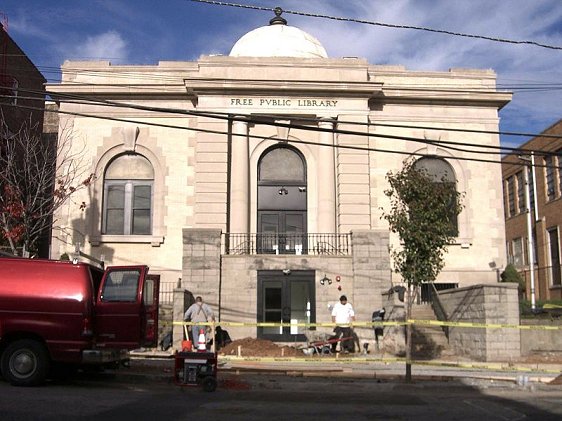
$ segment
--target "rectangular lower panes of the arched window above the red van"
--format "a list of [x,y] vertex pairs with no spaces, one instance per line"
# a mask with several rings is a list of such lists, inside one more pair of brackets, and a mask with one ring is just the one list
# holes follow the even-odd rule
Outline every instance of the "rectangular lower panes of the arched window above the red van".
[[140,180],[107,181],[103,233],[150,235],[152,233],[152,183]]

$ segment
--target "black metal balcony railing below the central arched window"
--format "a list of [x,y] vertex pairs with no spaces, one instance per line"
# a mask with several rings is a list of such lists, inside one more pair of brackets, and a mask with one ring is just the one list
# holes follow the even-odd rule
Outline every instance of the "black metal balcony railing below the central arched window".
[[294,254],[347,256],[351,234],[256,233],[223,234],[224,254]]

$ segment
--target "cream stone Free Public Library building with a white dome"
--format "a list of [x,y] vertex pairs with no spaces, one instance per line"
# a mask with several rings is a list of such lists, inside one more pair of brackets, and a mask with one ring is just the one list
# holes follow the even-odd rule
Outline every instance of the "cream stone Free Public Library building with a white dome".
[[[278,16],[228,56],[73,61],[62,74],[49,90],[97,178],[75,199],[85,210],[62,210],[53,257],[79,243],[111,264],[148,264],[223,321],[295,324],[234,337],[302,339],[297,322],[330,321],[341,294],[370,321],[400,282],[389,258],[397,238],[381,216],[385,176],[409,157],[465,194],[438,283],[495,283],[492,268],[505,265],[500,167],[431,142],[499,145],[486,131],[497,132],[511,94],[490,70],[329,58]],[[468,132],[448,130],[459,128]]]

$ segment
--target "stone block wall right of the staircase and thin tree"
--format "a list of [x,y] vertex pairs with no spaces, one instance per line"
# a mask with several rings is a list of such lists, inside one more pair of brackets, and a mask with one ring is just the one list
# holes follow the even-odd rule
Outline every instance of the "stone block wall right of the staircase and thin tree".
[[[442,291],[439,298],[452,322],[519,324],[517,285],[474,285]],[[450,327],[449,344],[458,355],[479,361],[506,361],[521,355],[519,329]]]

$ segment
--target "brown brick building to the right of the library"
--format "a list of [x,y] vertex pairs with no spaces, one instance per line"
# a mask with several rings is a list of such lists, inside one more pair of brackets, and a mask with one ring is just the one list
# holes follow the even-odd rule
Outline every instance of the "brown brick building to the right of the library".
[[[533,151],[502,159],[508,261],[525,276],[531,299],[526,190],[531,204],[531,232],[536,299],[562,299],[560,235],[562,227],[562,120],[520,146]],[[531,163],[534,165],[531,166]],[[525,178],[527,173],[527,179]],[[533,181],[534,180],[534,181]]]

